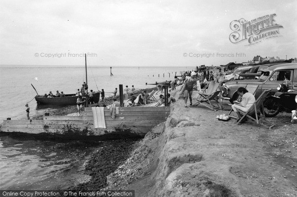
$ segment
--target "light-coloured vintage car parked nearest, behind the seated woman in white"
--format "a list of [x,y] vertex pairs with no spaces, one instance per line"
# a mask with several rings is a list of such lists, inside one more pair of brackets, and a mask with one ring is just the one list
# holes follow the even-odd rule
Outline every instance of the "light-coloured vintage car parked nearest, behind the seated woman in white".
[[233,103],[238,98],[237,89],[239,87],[245,87],[247,84],[259,85],[255,93],[256,98],[266,89],[271,89],[268,96],[274,95],[274,93],[278,91],[278,84],[284,81],[287,81],[288,84],[292,84],[293,89],[297,90],[297,63],[277,64],[261,72],[262,75],[259,79],[233,80],[227,82],[223,86],[223,96],[230,98],[230,102]]

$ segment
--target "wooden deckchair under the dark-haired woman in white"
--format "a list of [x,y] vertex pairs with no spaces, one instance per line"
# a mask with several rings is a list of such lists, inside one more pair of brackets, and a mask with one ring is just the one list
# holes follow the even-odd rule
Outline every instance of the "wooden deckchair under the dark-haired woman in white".
[[[258,119],[257,110],[260,108],[260,106],[262,106],[262,110],[263,110],[262,114],[263,116],[265,116],[263,102],[270,91],[271,89],[264,90],[262,94],[257,98],[256,102],[247,110],[247,112],[238,110],[238,112],[240,112],[243,116],[242,118],[239,119],[239,121],[236,122],[236,124],[239,124],[244,118],[250,118],[251,120],[257,122],[258,124],[259,119]],[[255,115],[256,118],[252,118],[251,115]]]

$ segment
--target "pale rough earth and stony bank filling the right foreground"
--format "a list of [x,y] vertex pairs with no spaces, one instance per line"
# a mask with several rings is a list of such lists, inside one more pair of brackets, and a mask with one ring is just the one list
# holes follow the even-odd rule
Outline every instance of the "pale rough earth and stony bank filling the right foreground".
[[290,114],[236,126],[235,119],[215,118],[228,114],[224,109],[187,109],[179,99],[105,189],[135,190],[136,197],[297,196],[297,124]]

